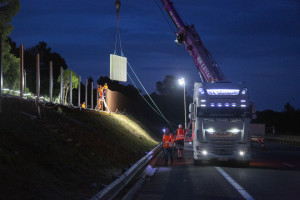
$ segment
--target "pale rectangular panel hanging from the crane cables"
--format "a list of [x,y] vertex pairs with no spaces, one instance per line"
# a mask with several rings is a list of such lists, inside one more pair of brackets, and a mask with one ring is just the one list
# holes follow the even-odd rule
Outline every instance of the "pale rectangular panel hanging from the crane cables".
[[110,79],[127,81],[127,58],[110,54]]

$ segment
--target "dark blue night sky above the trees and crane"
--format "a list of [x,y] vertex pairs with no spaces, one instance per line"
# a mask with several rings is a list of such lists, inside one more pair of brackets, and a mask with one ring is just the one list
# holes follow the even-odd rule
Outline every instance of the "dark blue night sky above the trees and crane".
[[[18,45],[45,41],[83,78],[109,75],[115,0],[20,3],[11,34]],[[154,0],[121,3],[123,52],[148,91],[171,74],[184,77],[191,94],[198,71],[185,47],[174,43]],[[184,22],[195,24],[227,79],[246,82],[258,110],[281,111],[287,102],[300,108],[300,1],[174,0],[174,5]]]

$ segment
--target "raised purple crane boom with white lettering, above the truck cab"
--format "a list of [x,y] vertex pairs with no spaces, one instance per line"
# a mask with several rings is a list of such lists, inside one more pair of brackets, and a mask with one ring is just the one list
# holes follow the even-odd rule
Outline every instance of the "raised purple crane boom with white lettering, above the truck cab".
[[186,49],[192,56],[202,81],[215,82],[226,80],[218,64],[205,48],[194,25],[183,23],[171,1],[161,0],[161,2],[178,29],[178,32],[176,32],[176,41],[179,45],[185,43]]

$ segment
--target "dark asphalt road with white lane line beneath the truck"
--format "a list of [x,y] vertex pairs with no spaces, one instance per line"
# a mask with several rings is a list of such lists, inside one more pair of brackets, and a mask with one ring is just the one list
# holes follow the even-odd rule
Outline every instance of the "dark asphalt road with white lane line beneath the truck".
[[254,145],[249,167],[228,162],[194,166],[186,143],[184,159],[172,166],[158,159],[136,199],[300,199],[300,147],[265,146]]

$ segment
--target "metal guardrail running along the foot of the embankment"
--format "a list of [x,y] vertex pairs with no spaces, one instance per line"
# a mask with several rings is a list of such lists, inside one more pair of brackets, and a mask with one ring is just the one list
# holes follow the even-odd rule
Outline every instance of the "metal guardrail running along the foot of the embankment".
[[133,166],[131,166],[125,173],[123,173],[119,178],[110,183],[99,193],[93,196],[90,200],[102,200],[102,199],[113,199],[118,195],[118,193],[136,176],[136,174],[143,169],[153,156],[161,150],[161,144],[158,144],[153,148],[146,156],[137,161]]

